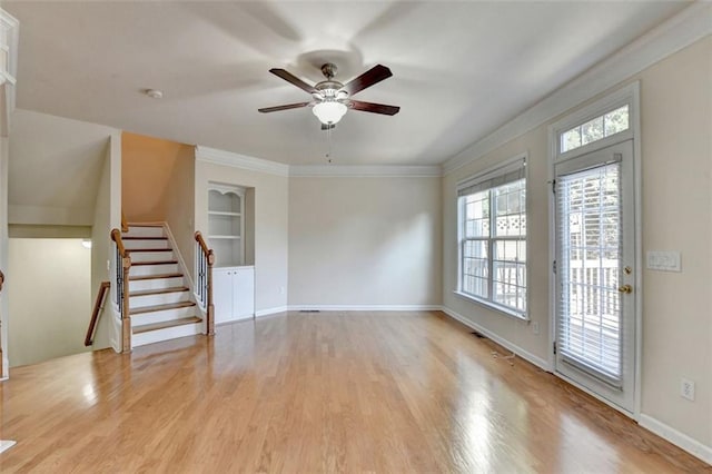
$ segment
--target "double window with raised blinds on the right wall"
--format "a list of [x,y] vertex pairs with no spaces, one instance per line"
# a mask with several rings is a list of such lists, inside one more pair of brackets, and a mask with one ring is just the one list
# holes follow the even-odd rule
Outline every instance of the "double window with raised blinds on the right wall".
[[526,318],[526,177],[518,158],[457,187],[458,293]]

